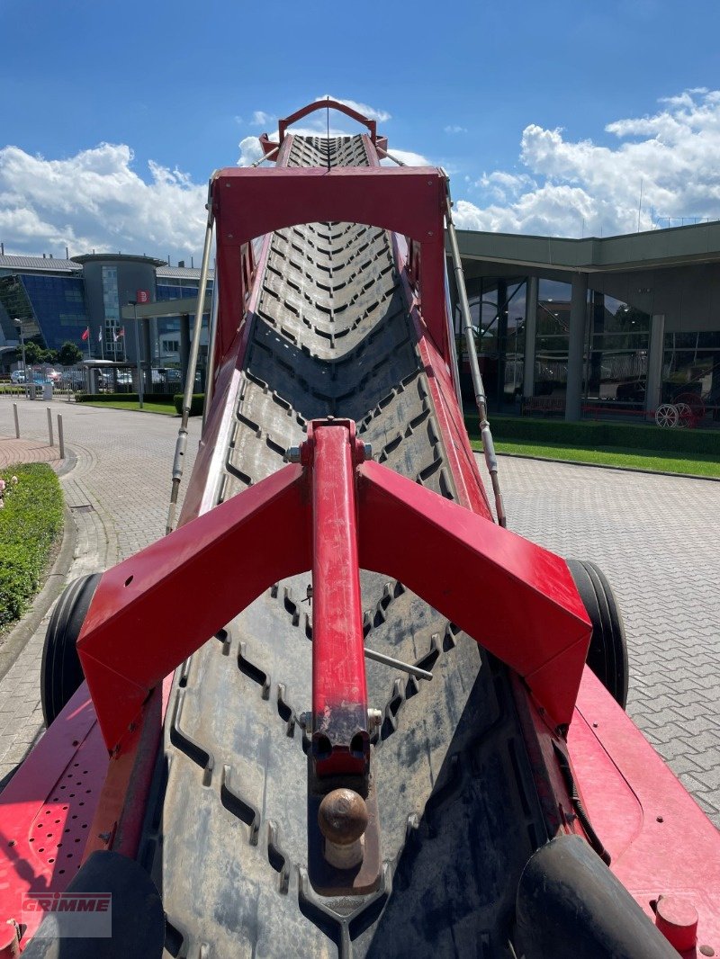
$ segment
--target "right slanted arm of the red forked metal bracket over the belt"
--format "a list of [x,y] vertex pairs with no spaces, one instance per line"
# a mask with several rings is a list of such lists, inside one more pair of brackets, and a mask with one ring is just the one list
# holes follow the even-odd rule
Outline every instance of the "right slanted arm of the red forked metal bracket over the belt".
[[591,626],[564,559],[377,463],[358,474],[360,565],[456,622],[567,727]]

